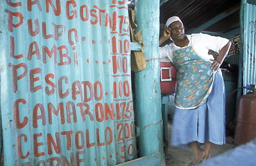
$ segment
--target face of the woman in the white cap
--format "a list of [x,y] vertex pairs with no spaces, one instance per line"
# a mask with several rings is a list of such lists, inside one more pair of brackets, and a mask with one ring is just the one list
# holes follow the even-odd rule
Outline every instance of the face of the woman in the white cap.
[[169,28],[171,28],[171,39],[173,39],[173,41],[185,38],[184,26],[180,21],[174,21]]

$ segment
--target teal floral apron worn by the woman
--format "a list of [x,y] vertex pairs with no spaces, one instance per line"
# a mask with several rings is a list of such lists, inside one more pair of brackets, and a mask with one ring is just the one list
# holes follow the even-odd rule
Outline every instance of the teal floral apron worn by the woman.
[[214,81],[212,62],[202,59],[192,46],[187,46],[173,51],[173,65],[178,70],[175,106],[195,109],[205,103]]

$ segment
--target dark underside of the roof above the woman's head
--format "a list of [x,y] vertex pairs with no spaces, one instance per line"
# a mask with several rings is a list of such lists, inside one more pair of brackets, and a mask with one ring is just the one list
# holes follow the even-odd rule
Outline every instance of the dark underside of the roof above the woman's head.
[[[180,0],[167,1],[160,6],[160,24],[165,24],[171,16],[177,15],[185,25],[185,31],[193,30],[212,21],[212,24],[201,30],[212,33],[225,33],[234,28],[239,28],[239,0]],[[234,12],[232,15],[224,15],[221,20],[214,21],[214,17],[227,12]],[[212,27],[213,26],[213,27]],[[198,32],[197,32],[198,33]]]

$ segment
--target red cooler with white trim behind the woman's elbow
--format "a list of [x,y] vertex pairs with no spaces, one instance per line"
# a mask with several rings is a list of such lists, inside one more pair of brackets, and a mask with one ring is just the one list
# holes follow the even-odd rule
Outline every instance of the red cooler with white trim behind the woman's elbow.
[[176,92],[177,70],[168,58],[160,60],[160,87],[162,95],[171,95]]

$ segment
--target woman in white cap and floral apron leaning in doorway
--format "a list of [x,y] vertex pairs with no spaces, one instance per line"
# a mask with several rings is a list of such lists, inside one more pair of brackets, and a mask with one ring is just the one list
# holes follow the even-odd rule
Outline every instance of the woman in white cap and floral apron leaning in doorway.
[[[210,158],[212,145],[225,143],[225,87],[219,67],[231,43],[202,33],[185,35],[179,17],[167,20],[160,44],[168,38],[173,43],[160,48],[160,57],[168,57],[178,70],[171,144],[191,147],[194,160],[189,165],[196,165]],[[209,50],[219,56],[214,59]]]

